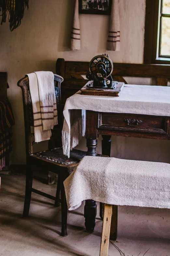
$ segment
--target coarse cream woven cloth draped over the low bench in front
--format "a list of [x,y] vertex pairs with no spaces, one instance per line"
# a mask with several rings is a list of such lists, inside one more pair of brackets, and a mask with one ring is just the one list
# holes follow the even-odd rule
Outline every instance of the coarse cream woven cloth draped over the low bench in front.
[[170,164],[85,156],[65,179],[64,188],[69,210],[87,199],[170,208]]

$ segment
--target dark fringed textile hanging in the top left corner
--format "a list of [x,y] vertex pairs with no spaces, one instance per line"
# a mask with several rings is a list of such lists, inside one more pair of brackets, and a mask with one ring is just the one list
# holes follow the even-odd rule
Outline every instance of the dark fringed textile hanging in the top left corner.
[[2,21],[1,25],[6,22],[7,13],[9,20],[10,30],[13,31],[15,28],[21,25],[21,20],[24,16],[24,10],[28,9],[29,0],[1,0],[0,9],[2,10]]

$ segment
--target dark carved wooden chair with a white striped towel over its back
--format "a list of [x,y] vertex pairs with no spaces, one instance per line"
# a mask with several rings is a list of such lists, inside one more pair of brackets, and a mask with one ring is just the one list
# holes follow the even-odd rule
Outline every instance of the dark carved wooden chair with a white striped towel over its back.
[[[28,217],[31,193],[34,192],[41,196],[45,196],[55,201],[54,206],[59,206],[61,203],[62,212],[62,231],[61,235],[67,235],[67,203],[65,198],[65,191],[63,181],[72,173],[74,167],[78,162],[86,155],[86,152],[73,149],[70,152],[70,158],[68,159],[63,155],[62,149],[62,127],[63,116],[61,111],[61,93],[60,84],[63,82],[63,77],[54,75],[57,112],[58,112],[58,125],[52,130],[52,136],[49,141],[49,150],[43,152],[33,153],[33,137],[34,133],[31,133],[31,126],[34,126],[33,109],[31,96],[29,92],[29,80],[28,77],[24,77],[18,82],[18,86],[22,89],[23,97],[23,110],[24,110],[24,124],[25,124],[25,142],[26,142],[26,187],[25,187],[25,201],[23,216]],[[56,196],[51,196],[44,192],[38,191],[32,188],[33,183],[33,171],[41,172],[43,169],[50,170],[51,172],[58,174],[57,191]],[[59,194],[61,191],[61,199]]]

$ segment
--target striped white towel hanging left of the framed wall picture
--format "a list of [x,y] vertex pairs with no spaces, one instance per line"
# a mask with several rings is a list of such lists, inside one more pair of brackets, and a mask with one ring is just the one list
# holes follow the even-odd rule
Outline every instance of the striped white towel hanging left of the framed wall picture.
[[80,50],[80,22],[78,15],[78,0],[75,3],[74,20],[71,30],[71,50]]

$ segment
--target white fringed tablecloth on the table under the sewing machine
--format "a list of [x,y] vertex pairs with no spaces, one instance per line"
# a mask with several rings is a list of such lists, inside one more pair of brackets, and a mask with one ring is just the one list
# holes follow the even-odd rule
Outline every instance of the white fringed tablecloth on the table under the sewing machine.
[[119,97],[80,93],[66,100],[63,111],[63,152],[68,157],[85,135],[85,110],[170,116],[170,87],[126,84]]

